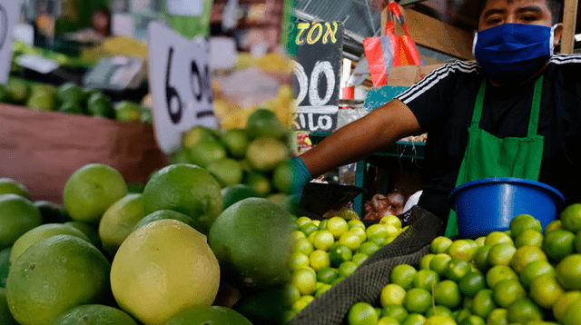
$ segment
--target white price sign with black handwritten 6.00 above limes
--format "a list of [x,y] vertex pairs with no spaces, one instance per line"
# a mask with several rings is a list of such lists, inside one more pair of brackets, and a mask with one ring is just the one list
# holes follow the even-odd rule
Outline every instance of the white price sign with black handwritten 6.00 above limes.
[[180,148],[194,125],[217,126],[210,80],[210,45],[183,37],[161,23],[149,25],[153,126],[163,153]]

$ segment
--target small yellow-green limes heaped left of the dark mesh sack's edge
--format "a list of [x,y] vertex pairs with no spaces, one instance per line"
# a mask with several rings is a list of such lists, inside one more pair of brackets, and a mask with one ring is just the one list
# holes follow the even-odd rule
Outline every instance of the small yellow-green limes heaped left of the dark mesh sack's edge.
[[[342,214],[357,215],[351,209]],[[287,318],[291,319],[321,293],[350,276],[359,265],[405,231],[395,215],[366,227],[359,219],[340,216],[311,220],[301,216],[292,232],[291,283],[287,286]]]

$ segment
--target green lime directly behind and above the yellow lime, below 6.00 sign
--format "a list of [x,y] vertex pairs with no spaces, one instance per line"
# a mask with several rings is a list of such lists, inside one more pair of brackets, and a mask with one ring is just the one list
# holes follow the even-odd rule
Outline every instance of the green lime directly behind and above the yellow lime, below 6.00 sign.
[[143,202],[146,214],[172,210],[192,217],[204,234],[210,231],[223,208],[220,184],[209,172],[185,163],[156,172],[145,185]]

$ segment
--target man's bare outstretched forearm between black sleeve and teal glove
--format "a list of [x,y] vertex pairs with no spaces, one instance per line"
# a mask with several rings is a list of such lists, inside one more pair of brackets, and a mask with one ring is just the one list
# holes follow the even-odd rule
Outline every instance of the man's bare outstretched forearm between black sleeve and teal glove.
[[334,168],[358,162],[399,139],[421,133],[409,107],[394,99],[330,134],[310,151],[300,155],[313,177]]

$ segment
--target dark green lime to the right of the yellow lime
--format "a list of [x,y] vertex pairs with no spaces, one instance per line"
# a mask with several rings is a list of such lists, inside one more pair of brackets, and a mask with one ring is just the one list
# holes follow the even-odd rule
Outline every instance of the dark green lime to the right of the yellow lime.
[[[224,267],[246,285],[284,283],[290,274],[291,214],[261,198],[237,202],[216,218],[208,235]],[[264,245],[264,242],[269,242]]]

